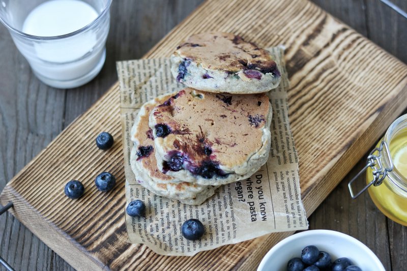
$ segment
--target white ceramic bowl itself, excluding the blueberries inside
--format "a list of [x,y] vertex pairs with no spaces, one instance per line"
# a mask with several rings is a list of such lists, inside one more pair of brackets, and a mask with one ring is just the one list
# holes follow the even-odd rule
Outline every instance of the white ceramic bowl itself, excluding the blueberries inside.
[[291,235],[275,245],[261,260],[257,271],[286,271],[287,262],[301,258],[309,245],[328,252],[332,261],[347,257],[363,271],[386,271],[379,258],[359,240],[333,230],[308,230]]

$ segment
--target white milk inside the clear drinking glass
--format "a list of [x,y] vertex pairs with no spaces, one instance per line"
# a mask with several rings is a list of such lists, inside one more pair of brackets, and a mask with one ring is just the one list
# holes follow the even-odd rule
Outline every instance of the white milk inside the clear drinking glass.
[[[97,11],[82,1],[51,0],[28,14],[22,32],[40,37],[61,36],[81,29],[97,17]],[[102,68],[108,23],[105,28],[103,38],[96,32],[100,30],[94,29],[67,38],[34,40],[34,51],[16,45],[42,81],[56,87],[74,87],[90,81]]]

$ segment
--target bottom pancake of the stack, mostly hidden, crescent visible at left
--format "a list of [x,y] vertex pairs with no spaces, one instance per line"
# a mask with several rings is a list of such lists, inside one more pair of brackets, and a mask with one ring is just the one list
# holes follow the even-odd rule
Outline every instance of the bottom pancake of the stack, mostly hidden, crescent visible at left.
[[215,193],[217,187],[202,186],[168,176],[157,168],[154,154],[154,137],[149,127],[150,111],[164,103],[171,95],[163,95],[145,103],[139,110],[131,130],[133,149],[130,164],[136,181],[154,194],[177,199],[187,204],[201,204]]

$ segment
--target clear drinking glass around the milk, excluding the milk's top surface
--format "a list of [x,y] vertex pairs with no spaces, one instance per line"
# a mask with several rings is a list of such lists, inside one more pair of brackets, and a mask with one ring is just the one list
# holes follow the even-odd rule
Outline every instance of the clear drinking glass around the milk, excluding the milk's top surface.
[[72,33],[53,37],[24,33],[22,28],[27,15],[47,1],[0,0],[0,21],[41,81],[57,88],[83,85],[99,73],[105,62],[112,0],[82,0],[93,7],[98,16]]

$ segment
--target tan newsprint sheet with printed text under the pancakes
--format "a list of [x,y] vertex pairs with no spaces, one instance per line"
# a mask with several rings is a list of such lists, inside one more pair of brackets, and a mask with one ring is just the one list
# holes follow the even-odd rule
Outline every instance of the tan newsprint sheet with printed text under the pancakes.
[[[199,251],[235,244],[264,234],[308,228],[301,201],[298,157],[288,121],[288,76],[283,49],[268,49],[281,71],[279,87],[269,92],[273,107],[271,151],[268,162],[250,178],[218,188],[201,205],[187,205],[144,189],[130,167],[131,127],[138,109],[158,95],[181,90],[170,73],[169,58],[117,63],[120,83],[121,121],[127,203],[141,199],[146,217],[126,214],[129,241],[145,244],[163,255],[191,256]],[[195,218],[205,226],[200,240],[182,236],[184,221]]]

